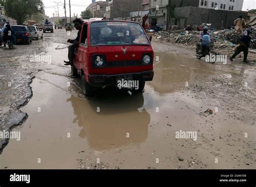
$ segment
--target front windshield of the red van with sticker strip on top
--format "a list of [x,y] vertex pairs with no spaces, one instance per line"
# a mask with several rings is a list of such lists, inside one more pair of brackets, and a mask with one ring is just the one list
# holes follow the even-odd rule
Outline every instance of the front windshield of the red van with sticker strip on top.
[[149,40],[138,23],[93,22],[91,45],[149,45]]

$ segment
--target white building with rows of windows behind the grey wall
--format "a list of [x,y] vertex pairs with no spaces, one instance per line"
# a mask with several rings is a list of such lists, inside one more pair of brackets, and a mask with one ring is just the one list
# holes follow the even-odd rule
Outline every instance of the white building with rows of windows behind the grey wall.
[[199,8],[241,11],[244,0],[200,0]]

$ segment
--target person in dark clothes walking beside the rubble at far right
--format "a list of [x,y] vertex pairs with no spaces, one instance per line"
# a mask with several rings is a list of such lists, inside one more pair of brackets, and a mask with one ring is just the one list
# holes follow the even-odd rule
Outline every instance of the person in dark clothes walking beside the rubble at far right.
[[248,63],[247,61],[247,56],[248,56],[248,50],[251,42],[251,37],[250,37],[251,31],[246,30],[245,33],[242,35],[241,40],[238,44],[237,47],[235,47],[235,53],[233,56],[230,58],[230,61],[233,61],[233,59],[240,53],[244,52],[244,63]]

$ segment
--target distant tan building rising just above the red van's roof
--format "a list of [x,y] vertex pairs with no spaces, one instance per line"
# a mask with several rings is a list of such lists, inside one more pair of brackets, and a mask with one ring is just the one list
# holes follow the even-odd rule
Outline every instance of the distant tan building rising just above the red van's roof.
[[92,12],[93,18],[103,18],[106,15],[106,6],[107,2],[97,1],[87,6],[86,10],[90,10]]

